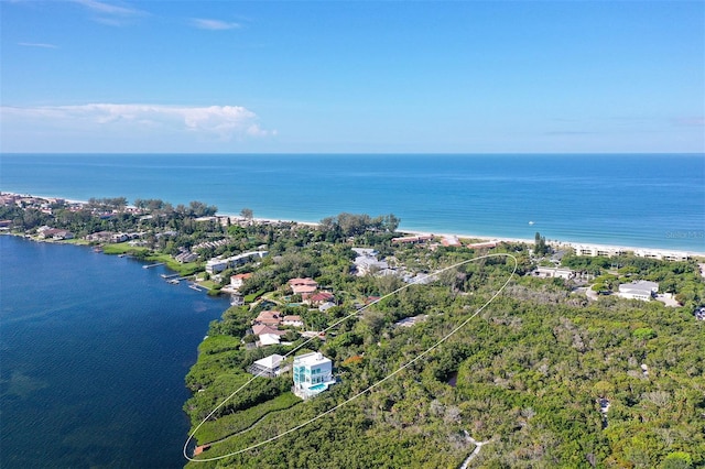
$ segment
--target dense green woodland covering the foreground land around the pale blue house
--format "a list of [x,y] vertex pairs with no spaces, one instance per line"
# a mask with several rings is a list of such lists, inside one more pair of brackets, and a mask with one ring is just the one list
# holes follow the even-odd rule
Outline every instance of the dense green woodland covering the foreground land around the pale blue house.
[[[332,230],[339,226],[329,222]],[[303,236],[303,234],[302,234]],[[415,272],[434,272],[482,252],[467,248],[394,246],[391,234],[357,233],[368,246]],[[323,329],[355,313],[366,298],[403,285],[394,276],[355,276],[350,238],[311,233],[286,244],[254,270],[249,291],[276,303],[286,279],[311,276],[336,294],[324,313],[283,306]],[[256,449],[187,467],[458,468],[476,441],[487,441],[469,467],[705,467],[705,323],[693,316],[704,285],[695,262],[633,257],[566,255],[564,265],[662,282],[682,307],[612,295],[588,301],[561,279],[528,273],[536,259],[527,247],[491,252],[519,259],[507,290],[456,335],[393,378],[335,412]],[[338,383],[302,402],[292,374],[256,378],[194,435],[209,445],[197,458],[217,458],[258,445],[378,383],[462,324],[501,287],[513,262],[490,258],[464,264],[426,285],[412,285],[365,308],[295,355],[318,350],[334,360]],[[210,326],[186,382],[194,396],[185,410],[195,429],[225,397],[252,378],[254,360],[301,345],[247,350],[245,331],[263,308],[228,309]],[[394,323],[419,315],[413,327]]]

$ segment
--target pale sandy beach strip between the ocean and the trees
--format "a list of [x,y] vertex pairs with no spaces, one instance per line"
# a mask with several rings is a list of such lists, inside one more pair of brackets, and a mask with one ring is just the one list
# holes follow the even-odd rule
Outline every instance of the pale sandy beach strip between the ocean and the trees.
[[[68,204],[88,204],[88,200],[77,200],[77,199],[68,199],[59,196],[48,196],[48,195],[35,195],[35,194],[17,194],[12,192],[2,192],[3,195],[14,195],[21,197],[35,197],[35,198],[46,198],[46,199],[62,199]],[[134,206],[128,205],[128,207],[134,208]],[[235,220],[246,220],[246,218],[241,217],[237,214],[218,214],[214,215],[217,218],[231,218]],[[265,217],[253,217],[252,221],[258,223],[272,223],[272,222],[294,222],[297,225],[308,226],[308,227],[317,227],[319,223],[316,221],[301,221],[294,219],[284,219],[284,218],[265,218]],[[513,238],[513,237],[503,237],[503,236],[487,236],[487,234],[471,234],[471,233],[452,233],[445,230],[440,230],[440,232],[424,231],[424,230],[414,230],[414,229],[403,229],[398,228],[397,230],[401,234],[408,236],[433,236],[440,238],[447,239],[471,239],[478,240],[481,242],[516,242],[523,244],[533,244],[534,240],[529,238]],[[562,240],[546,240],[546,243],[553,247],[560,248],[572,248],[576,251],[579,249],[583,250],[593,250],[595,252],[633,252],[633,253],[647,253],[653,254],[655,258],[658,257],[686,257],[686,258],[705,258],[705,251],[694,251],[687,249],[671,249],[671,248],[655,248],[655,247],[634,247],[628,244],[605,244],[605,243],[596,243],[590,241],[562,241]],[[652,257],[652,255],[646,255]]]

